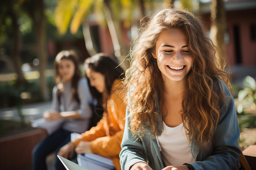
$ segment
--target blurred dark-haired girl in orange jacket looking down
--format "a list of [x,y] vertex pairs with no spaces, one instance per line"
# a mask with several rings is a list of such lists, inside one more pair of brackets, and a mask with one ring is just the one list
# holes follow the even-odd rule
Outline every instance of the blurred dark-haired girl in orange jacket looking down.
[[104,114],[98,124],[82,133],[82,137],[60,148],[58,155],[72,158],[77,154],[93,153],[113,160],[116,169],[119,165],[119,152],[125,125],[125,90],[120,79],[123,70],[110,57],[96,54],[85,60],[86,76],[90,85],[102,94]]

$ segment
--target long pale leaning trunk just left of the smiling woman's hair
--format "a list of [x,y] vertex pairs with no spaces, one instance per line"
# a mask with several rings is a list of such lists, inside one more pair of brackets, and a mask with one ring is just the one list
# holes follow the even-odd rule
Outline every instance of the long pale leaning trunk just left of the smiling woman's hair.
[[125,45],[123,45],[122,43],[121,25],[119,24],[119,22],[113,20],[108,0],[104,1],[104,13],[106,16],[106,22],[109,28],[110,36],[113,42],[115,57],[117,57],[118,62],[121,64],[121,67],[123,69],[127,69],[129,67],[129,64],[126,61],[127,50],[125,49]]

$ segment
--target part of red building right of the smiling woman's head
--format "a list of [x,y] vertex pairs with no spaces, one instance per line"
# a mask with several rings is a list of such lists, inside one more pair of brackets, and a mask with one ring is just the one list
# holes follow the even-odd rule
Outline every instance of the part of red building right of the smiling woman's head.
[[[256,1],[228,0],[226,9],[226,55],[231,66],[256,66]],[[205,3],[202,18],[210,26],[210,3]]]

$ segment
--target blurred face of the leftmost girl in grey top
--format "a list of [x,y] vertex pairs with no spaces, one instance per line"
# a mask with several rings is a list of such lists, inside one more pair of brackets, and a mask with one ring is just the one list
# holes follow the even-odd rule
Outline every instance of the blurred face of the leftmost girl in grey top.
[[70,82],[75,74],[75,64],[70,59],[61,59],[58,71],[65,82]]

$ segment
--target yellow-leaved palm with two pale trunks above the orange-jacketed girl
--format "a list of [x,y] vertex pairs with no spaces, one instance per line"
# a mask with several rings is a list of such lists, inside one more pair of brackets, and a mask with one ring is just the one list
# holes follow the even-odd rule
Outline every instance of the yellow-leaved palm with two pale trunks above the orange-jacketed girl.
[[[76,33],[82,24],[86,48],[89,54],[93,55],[96,50],[89,32],[88,16],[92,12],[103,15],[112,38],[115,57],[121,62],[127,55],[127,48],[123,45],[121,37],[120,11],[123,6],[125,6],[123,8],[131,10],[135,2],[135,0],[60,0],[57,2],[55,10],[56,26],[60,33],[65,33],[71,22],[71,32]],[[126,13],[127,24],[132,18],[132,12]],[[126,68],[127,65],[123,65],[123,67]]]

